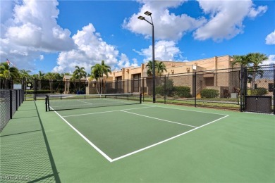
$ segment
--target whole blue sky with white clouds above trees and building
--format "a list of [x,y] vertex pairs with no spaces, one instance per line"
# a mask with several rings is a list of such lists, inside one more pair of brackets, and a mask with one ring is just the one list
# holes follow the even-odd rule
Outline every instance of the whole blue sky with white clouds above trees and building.
[[73,72],[104,60],[112,70],[155,58],[194,61],[264,53],[275,63],[275,1],[2,1],[1,62]]

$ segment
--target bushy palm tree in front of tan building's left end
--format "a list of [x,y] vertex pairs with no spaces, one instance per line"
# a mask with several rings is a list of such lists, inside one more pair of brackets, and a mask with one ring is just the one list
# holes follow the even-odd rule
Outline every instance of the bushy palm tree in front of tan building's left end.
[[102,81],[103,81],[103,76],[106,75],[106,77],[109,77],[109,74],[111,73],[111,67],[109,65],[106,65],[104,61],[102,61],[102,64],[100,65],[99,63],[95,64],[94,66],[91,67],[91,80],[99,80],[99,87],[100,91],[97,89],[97,93],[102,94],[103,92],[103,86],[102,86]]

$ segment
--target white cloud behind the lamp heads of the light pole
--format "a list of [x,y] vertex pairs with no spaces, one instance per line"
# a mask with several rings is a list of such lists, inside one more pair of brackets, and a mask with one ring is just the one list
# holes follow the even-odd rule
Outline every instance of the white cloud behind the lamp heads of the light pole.
[[145,37],[152,37],[152,26],[144,20],[139,20],[142,15],[149,21],[149,16],[144,15],[145,11],[152,13],[154,22],[154,35],[156,39],[169,39],[178,41],[185,32],[200,27],[205,22],[204,18],[191,18],[186,14],[175,15],[169,12],[169,8],[176,8],[184,1],[139,1],[142,4],[139,13],[133,14],[130,18],[124,20],[123,27]]

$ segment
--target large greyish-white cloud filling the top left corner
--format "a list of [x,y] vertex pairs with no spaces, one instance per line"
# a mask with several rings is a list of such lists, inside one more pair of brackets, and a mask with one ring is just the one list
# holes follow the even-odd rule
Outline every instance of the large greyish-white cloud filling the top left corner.
[[42,52],[73,49],[71,32],[56,23],[58,4],[56,0],[1,1],[1,60],[13,59],[19,68],[30,70]]

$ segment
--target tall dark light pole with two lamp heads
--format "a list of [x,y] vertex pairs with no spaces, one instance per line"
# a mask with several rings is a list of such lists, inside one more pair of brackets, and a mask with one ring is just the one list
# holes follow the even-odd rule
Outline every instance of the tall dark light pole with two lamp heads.
[[153,65],[152,65],[152,68],[153,68],[153,70],[152,70],[152,79],[153,79],[153,103],[155,103],[156,102],[156,75],[155,75],[155,72],[154,72],[154,23],[153,23],[153,20],[152,20],[152,13],[151,12],[149,12],[149,11],[146,11],[145,12],[145,15],[148,15],[148,16],[150,16],[150,18],[151,18],[151,23],[148,21],[148,20],[146,20],[145,19],[145,17],[143,17],[143,16],[139,16],[138,17],[138,19],[140,19],[140,20],[145,20],[147,23],[149,23],[150,25],[152,25],[152,63],[153,63]]

